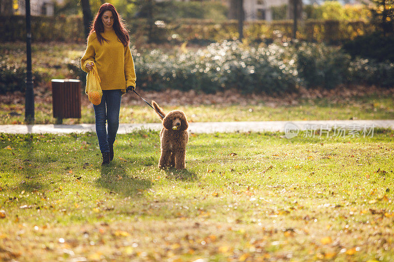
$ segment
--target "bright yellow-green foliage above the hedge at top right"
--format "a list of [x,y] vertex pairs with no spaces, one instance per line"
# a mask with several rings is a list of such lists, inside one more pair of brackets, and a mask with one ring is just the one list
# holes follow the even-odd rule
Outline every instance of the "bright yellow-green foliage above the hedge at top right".
[[304,12],[306,19],[346,21],[368,21],[371,14],[365,5],[342,5],[339,1],[324,1],[321,5],[305,5]]

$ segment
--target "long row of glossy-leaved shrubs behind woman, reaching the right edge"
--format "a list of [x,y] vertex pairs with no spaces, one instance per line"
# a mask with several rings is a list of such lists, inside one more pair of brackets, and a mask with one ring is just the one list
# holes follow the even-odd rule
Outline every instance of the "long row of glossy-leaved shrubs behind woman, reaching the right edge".
[[[132,51],[137,86],[145,90],[194,89],[212,93],[237,88],[245,93],[295,92],[297,87],[332,89],[342,84],[394,86],[394,64],[352,59],[325,44],[249,45],[212,43],[205,49],[164,53]],[[85,78],[79,61],[69,68]]]

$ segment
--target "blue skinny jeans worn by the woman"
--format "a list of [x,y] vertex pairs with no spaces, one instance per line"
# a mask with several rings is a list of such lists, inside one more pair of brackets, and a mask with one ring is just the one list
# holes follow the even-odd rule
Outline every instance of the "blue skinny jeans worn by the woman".
[[[102,90],[101,103],[93,105],[96,117],[96,133],[99,139],[101,152],[109,152],[113,146],[119,127],[119,111],[122,100],[122,92],[119,89]],[[108,132],[105,122],[108,120]]]

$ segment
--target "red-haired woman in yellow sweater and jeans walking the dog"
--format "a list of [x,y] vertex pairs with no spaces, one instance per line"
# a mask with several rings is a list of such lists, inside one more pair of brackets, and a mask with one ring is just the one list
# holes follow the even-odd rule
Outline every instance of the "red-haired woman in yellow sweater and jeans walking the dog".
[[[102,165],[108,165],[114,157],[113,145],[119,127],[122,94],[126,92],[126,87],[135,89],[130,38],[121,19],[112,4],[102,4],[90,30],[85,54],[81,58],[82,70],[88,73],[95,63],[101,79],[101,103],[93,107]],[[106,120],[108,130],[105,129]]]

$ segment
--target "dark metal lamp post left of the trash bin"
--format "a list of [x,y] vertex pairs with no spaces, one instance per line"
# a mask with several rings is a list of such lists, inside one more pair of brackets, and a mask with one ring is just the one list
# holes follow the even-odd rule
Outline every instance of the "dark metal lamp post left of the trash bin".
[[32,74],[32,32],[30,23],[30,0],[26,0],[26,55],[27,55],[27,72],[26,72],[26,94],[25,94],[25,120],[34,121],[34,92],[33,92],[33,74]]

